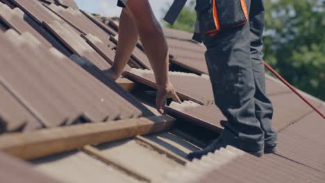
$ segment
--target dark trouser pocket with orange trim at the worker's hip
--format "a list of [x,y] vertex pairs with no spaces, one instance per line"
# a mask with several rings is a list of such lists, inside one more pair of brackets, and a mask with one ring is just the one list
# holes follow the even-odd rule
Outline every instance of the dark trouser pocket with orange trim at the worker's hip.
[[200,32],[215,34],[226,28],[242,26],[249,14],[245,0],[197,0]]

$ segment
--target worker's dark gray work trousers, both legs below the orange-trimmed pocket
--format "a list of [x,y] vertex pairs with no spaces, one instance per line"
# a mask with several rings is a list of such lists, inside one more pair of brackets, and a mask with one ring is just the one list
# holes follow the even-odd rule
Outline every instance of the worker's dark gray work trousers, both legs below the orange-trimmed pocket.
[[[206,0],[197,3],[203,1]],[[246,2],[247,24],[226,28],[215,35],[203,34],[203,43],[207,47],[206,62],[215,103],[228,119],[222,125],[238,136],[243,150],[258,151],[265,143],[276,144],[277,134],[272,129],[272,103],[265,91],[264,3],[263,0]],[[198,18],[202,21],[202,17]],[[203,21],[200,23],[204,26],[211,23],[211,19]]]

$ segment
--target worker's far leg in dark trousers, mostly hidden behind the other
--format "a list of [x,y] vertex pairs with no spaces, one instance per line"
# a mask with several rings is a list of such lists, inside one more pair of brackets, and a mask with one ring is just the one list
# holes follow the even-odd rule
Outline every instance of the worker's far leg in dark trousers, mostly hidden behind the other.
[[[265,67],[263,64],[263,29],[265,26],[265,8],[263,0],[251,1],[251,11],[249,14],[251,26],[251,61],[253,64],[253,76],[255,80],[256,92],[255,115],[260,121],[260,125],[265,135],[265,152],[274,150],[277,143],[277,134],[272,129],[273,107],[265,90]],[[271,150],[271,151],[269,151]]]

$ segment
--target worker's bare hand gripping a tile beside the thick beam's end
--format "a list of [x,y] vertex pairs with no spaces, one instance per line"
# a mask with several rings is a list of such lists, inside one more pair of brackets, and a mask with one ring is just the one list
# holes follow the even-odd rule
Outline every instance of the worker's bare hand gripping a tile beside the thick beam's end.
[[166,105],[167,98],[172,98],[175,102],[181,103],[181,100],[178,98],[176,92],[174,91],[174,87],[172,84],[169,84],[165,87],[158,87],[156,105],[157,110],[158,112],[160,112],[160,114],[164,114],[163,109]]

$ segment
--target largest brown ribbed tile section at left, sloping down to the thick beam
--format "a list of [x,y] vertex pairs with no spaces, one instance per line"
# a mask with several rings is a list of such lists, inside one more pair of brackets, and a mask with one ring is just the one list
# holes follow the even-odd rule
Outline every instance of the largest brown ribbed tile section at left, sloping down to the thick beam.
[[1,85],[45,127],[142,115],[122,96],[56,49],[49,51],[33,35],[8,30],[0,35],[0,42]]

